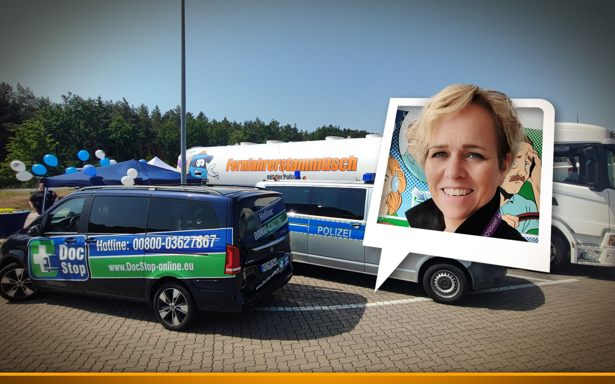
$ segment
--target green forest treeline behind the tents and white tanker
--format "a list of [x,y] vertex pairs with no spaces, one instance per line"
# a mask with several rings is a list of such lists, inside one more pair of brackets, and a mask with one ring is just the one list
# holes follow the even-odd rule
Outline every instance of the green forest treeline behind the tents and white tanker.
[[[180,154],[181,108],[162,112],[158,106],[136,107],[125,98],[121,101],[84,99],[68,93],[62,103],[51,103],[49,97],[35,96],[30,88],[19,83],[15,90],[0,84],[0,188],[30,186],[36,182],[20,182],[9,163],[21,160],[30,171],[42,157],[53,154],[57,168],[47,167],[45,176],[63,173],[67,167],[82,167],[77,152],[85,149],[90,159],[85,163],[98,166],[94,152],[101,149],[106,157],[117,162],[130,159],[149,160],[159,157],[170,165],[177,164]],[[326,136],[365,137],[365,130],[341,129],[323,125],[312,132],[300,130],[296,124],[281,125],[276,120],[265,123],[256,117],[243,123],[208,119],[203,112],[196,116],[186,112],[186,147],[225,146],[249,141],[308,141]]]

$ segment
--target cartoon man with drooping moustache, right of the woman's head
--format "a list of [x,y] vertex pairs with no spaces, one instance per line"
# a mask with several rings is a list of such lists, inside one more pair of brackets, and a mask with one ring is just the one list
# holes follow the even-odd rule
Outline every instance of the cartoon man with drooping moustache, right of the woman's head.
[[[500,198],[502,219],[521,233],[530,233],[530,230],[538,233],[541,170],[542,162],[538,152],[534,150],[534,143],[526,136],[502,183]],[[526,181],[531,184],[536,202],[518,194]]]

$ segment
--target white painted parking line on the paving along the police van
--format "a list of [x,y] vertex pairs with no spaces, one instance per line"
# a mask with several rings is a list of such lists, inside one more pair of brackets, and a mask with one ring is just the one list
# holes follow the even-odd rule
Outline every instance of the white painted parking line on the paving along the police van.
[[[540,279],[540,280],[544,280],[544,279]],[[469,292],[469,294],[477,295],[477,294],[490,293],[490,292],[510,291],[512,289],[534,288],[536,286],[574,283],[575,281],[579,281],[579,280],[577,279],[547,280],[547,281],[541,281],[539,283],[518,284],[518,285],[511,285],[511,286],[499,287],[499,288],[482,289],[480,291]],[[367,307],[381,307],[384,305],[411,304],[411,303],[416,303],[416,302],[421,302],[421,301],[432,301],[432,299],[430,299],[429,297],[414,297],[413,299],[387,300],[387,301],[378,301],[378,302],[373,302],[373,303],[361,303],[361,304],[320,305],[320,306],[315,305],[312,307],[255,307],[255,308],[252,308],[252,310],[268,311],[268,312],[332,311],[332,310],[346,310],[346,309],[367,308]]]

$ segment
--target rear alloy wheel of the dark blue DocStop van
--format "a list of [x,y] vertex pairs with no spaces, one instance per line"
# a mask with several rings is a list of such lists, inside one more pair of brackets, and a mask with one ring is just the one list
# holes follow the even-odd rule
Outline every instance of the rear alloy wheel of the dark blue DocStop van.
[[171,331],[188,329],[198,312],[188,289],[177,283],[162,284],[154,295],[153,307],[158,321]]

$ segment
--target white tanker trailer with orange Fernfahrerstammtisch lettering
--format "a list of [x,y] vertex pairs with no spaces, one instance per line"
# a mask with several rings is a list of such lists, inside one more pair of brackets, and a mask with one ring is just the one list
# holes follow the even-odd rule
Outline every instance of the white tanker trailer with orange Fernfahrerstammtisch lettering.
[[[242,184],[294,179],[295,171],[313,180],[362,180],[375,173],[382,135],[234,146],[192,147],[186,151],[188,173],[208,184]],[[179,168],[178,168],[179,169]]]

